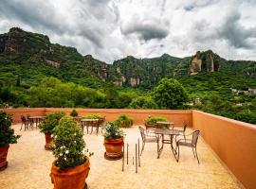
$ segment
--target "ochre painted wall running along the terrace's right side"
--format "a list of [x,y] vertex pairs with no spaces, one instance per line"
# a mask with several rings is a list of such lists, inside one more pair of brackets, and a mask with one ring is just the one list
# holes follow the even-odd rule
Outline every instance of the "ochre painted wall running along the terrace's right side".
[[192,126],[247,189],[256,188],[256,125],[193,111]]

